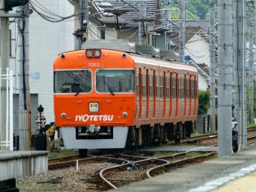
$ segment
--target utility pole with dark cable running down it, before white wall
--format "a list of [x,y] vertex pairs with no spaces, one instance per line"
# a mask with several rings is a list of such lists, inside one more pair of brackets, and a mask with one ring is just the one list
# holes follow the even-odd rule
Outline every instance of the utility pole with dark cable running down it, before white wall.
[[31,137],[31,97],[29,86],[29,1],[19,12],[19,150],[29,150]]

